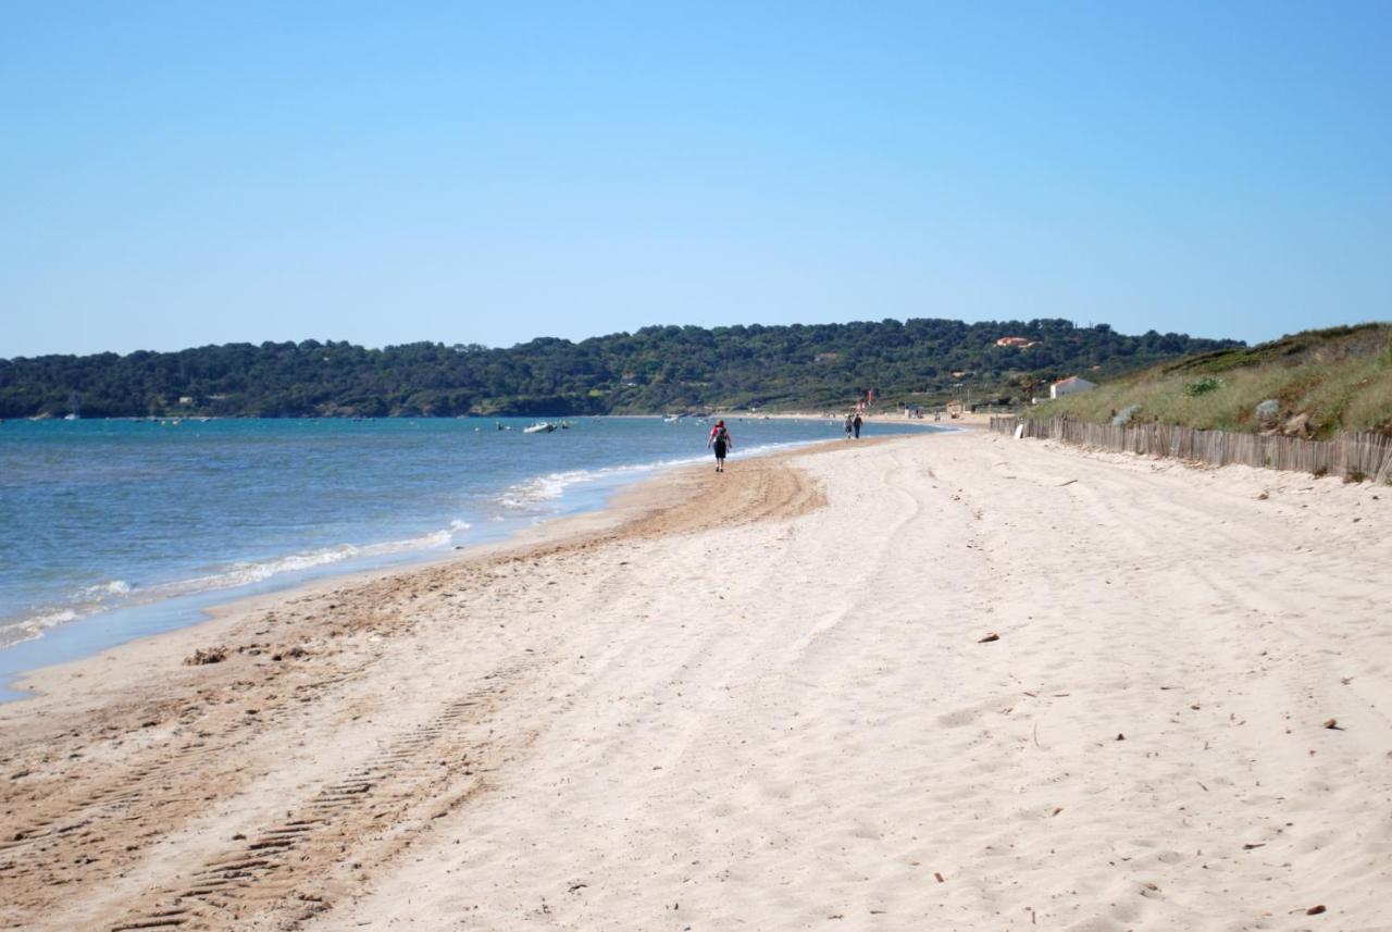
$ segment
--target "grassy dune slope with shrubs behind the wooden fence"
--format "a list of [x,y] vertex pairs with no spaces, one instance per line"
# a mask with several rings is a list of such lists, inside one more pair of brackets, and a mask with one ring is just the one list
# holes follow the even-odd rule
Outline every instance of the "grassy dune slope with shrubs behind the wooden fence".
[[1311,330],[1161,363],[1038,405],[1030,416],[1107,423],[1132,406],[1132,423],[1320,438],[1392,434],[1392,324]]

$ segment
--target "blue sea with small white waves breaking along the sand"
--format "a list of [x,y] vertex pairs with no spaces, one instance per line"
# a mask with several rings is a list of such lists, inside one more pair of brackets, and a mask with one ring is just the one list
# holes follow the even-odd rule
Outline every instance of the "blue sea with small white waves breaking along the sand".
[[[0,689],[245,595],[503,541],[709,456],[699,417],[582,417],[526,433],[533,423],[0,423]],[[842,435],[828,419],[727,424],[732,470]],[[931,428],[876,421],[866,434],[908,430]]]

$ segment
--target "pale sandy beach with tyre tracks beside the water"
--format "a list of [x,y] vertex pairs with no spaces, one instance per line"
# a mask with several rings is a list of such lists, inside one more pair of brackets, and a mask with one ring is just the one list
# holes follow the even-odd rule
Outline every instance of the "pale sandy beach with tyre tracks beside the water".
[[1334,479],[689,469],[35,675],[0,928],[1389,929],[1389,566]]

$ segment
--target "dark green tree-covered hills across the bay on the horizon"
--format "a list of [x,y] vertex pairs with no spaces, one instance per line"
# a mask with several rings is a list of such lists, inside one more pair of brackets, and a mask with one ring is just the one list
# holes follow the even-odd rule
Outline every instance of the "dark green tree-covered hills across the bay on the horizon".
[[[998,346],[1020,337],[1030,346]],[[0,417],[148,415],[455,416],[832,408],[970,392],[1012,403],[1075,373],[1105,377],[1239,346],[1182,334],[1126,337],[1068,320],[883,320],[791,327],[646,327],[509,349],[347,342],[228,344],[173,353],[0,360]]]

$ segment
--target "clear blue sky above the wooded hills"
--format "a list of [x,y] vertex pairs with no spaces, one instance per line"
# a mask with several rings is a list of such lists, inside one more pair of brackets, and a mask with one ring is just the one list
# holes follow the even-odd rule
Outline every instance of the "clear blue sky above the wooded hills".
[[1392,317],[1392,3],[0,6],[0,356]]

